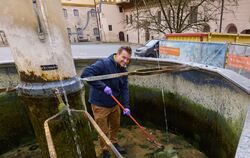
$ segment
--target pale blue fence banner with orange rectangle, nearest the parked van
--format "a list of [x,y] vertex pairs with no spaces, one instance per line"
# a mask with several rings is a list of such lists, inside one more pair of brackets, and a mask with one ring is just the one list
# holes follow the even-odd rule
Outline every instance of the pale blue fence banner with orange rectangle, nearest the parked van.
[[195,62],[216,67],[224,67],[227,44],[160,41],[160,58],[170,58],[185,62]]

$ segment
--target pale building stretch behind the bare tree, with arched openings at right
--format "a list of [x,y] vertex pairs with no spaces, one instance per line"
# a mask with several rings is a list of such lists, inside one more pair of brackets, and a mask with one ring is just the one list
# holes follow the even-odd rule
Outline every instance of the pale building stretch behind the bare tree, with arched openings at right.
[[[124,11],[125,21],[126,21],[126,36],[128,37],[128,41],[132,43],[144,43],[149,39],[153,38],[163,38],[164,34],[147,30],[145,29],[131,29],[131,25],[134,21],[133,19],[136,16],[135,5],[130,5],[126,7],[128,4],[125,4],[126,8]],[[216,4],[221,6],[221,3]],[[231,0],[225,0],[223,18],[222,18],[222,26],[221,33],[231,33],[231,34],[250,34],[250,1],[249,0],[238,0],[238,3],[233,3]],[[143,7],[141,7],[143,8]],[[144,7],[145,8],[145,7]],[[149,7],[150,12],[156,16],[158,19],[162,18],[163,15],[159,9],[159,7]],[[140,6],[139,6],[139,12]],[[220,31],[220,9],[216,14],[215,20],[208,22],[204,25],[202,30],[188,30],[185,32],[219,32]],[[160,20],[162,21],[162,19]]]

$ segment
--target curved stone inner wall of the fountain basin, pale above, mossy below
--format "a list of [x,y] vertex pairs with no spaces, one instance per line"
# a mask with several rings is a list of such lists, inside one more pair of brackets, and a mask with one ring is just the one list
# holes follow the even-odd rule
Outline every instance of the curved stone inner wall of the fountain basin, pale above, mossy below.
[[[96,60],[75,59],[77,74]],[[171,65],[172,62],[160,61],[159,64]],[[157,65],[154,60],[133,59],[129,71]],[[195,67],[185,72],[129,76],[132,114],[144,126],[165,129],[165,106],[169,130],[188,138],[209,157],[234,157],[250,104],[250,90],[237,82],[234,79],[238,78],[237,74],[230,70],[218,73],[219,70],[209,67]],[[18,80],[13,63],[0,65],[0,87],[17,85]],[[15,100],[15,93],[12,99],[8,95],[0,94],[0,99],[8,102],[8,105],[0,102],[0,113],[5,114],[0,115],[1,125],[4,123],[0,129],[0,154],[24,143],[24,137],[34,138],[24,106]],[[15,111],[15,117],[12,117],[15,113],[5,107]],[[126,121],[131,123],[123,118],[122,122]],[[16,130],[16,124],[6,122],[20,124],[23,132]],[[7,148],[3,148],[6,145]]]

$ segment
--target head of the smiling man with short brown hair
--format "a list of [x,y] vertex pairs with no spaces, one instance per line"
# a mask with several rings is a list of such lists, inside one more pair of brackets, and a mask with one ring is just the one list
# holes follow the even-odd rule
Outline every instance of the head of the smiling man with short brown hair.
[[131,58],[132,50],[129,46],[121,46],[115,56],[115,61],[121,67],[127,67]]

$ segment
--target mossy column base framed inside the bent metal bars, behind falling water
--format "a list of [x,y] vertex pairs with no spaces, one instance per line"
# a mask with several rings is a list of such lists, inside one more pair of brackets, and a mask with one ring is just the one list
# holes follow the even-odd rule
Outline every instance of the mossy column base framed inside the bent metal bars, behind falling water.
[[96,157],[95,146],[88,121],[82,113],[72,112],[71,117],[76,135],[73,132],[67,111],[64,111],[60,116],[49,121],[52,139],[54,144],[56,144],[55,150],[57,157],[77,157],[74,137],[76,137],[76,143],[79,145],[82,157]]

